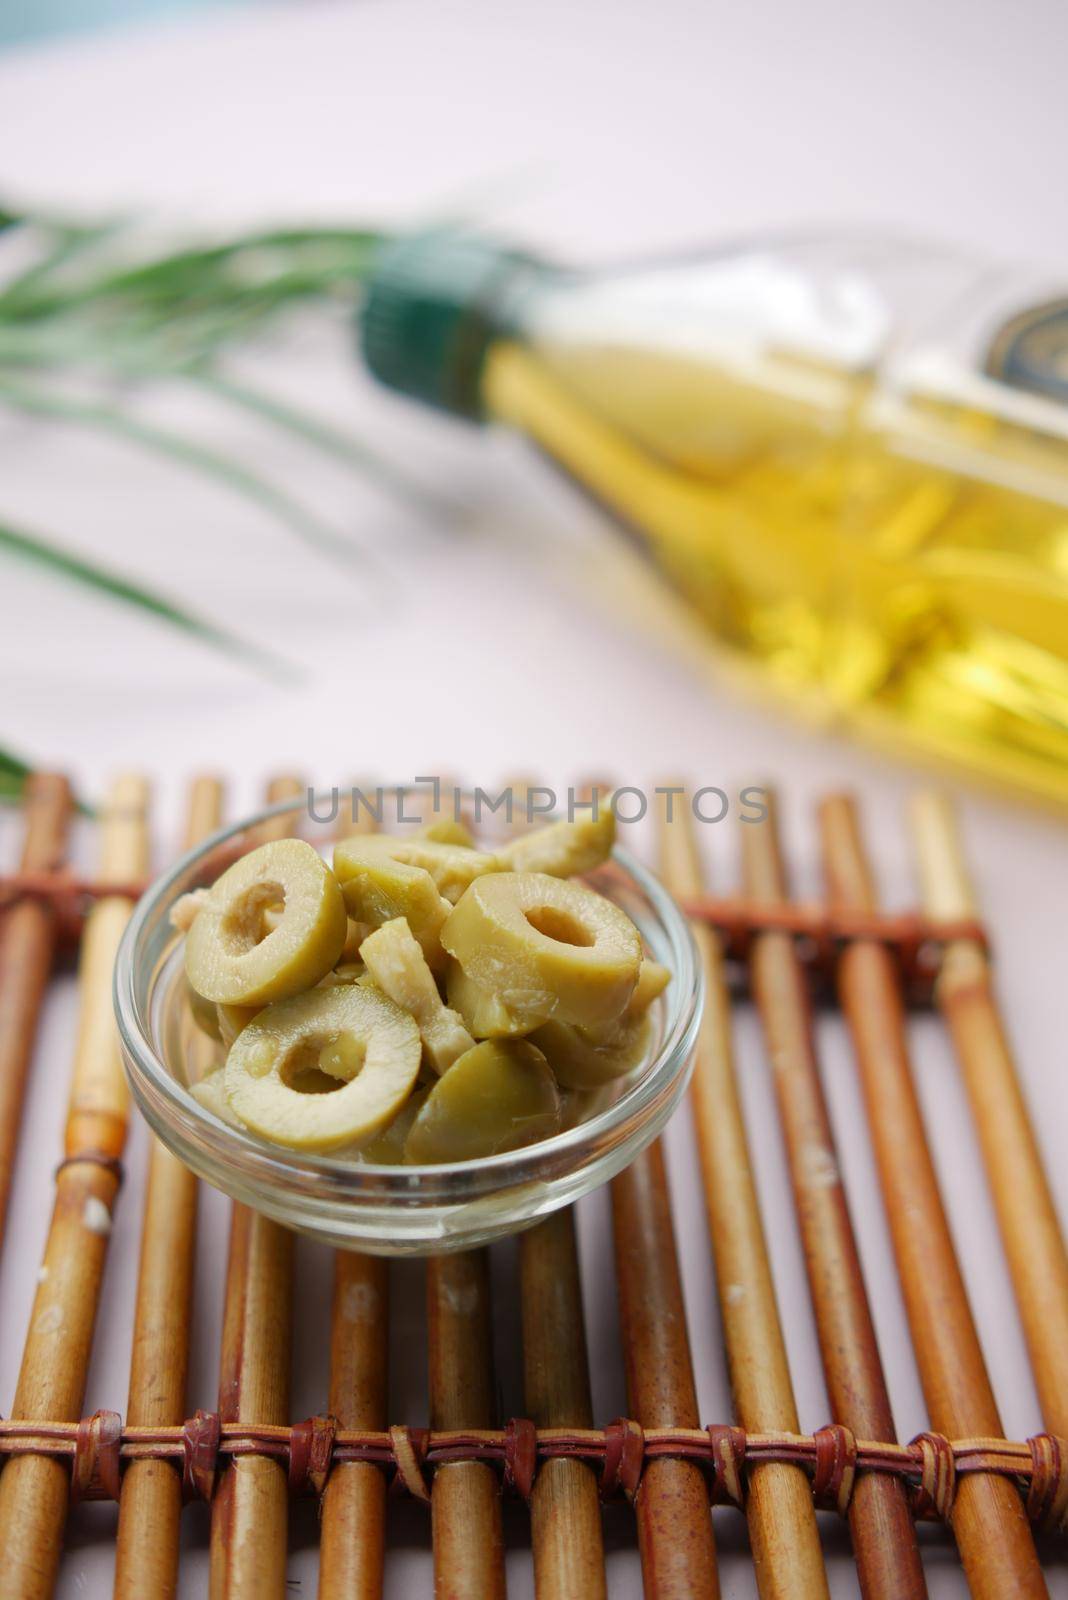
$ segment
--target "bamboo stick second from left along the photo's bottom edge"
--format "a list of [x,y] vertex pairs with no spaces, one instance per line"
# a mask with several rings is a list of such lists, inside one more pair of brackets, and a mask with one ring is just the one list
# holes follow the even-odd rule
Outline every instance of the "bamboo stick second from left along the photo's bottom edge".
[[[189,792],[185,848],[211,834],[222,816],[222,784],[195,778]],[[201,1043],[209,1046],[209,1040]],[[141,1267],[134,1310],[130,1400],[131,1427],[158,1427],[185,1418],[197,1179],[158,1139],[152,1139],[145,1187]],[[115,1600],[177,1590],[181,1474],[169,1461],[131,1461],[123,1474],[115,1552]]]

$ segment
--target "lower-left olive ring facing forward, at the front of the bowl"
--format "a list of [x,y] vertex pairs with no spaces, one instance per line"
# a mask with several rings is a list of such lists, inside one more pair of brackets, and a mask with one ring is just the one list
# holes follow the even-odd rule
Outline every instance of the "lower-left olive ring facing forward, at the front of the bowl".
[[360,982],[312,989],[267,1006],[233,1043],[225,1094],[240,1120],[294,1150],[369,1139],[404,1104],[420,1059],[419,1029]]

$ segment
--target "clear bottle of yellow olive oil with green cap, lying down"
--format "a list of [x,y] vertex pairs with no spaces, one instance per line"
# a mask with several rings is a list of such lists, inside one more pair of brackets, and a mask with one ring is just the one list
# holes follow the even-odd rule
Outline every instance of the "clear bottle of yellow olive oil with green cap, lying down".
[[390,245],[390,386],[529,435],[822,715],[1068,806],[1068,299],[811,237],[580,274]]

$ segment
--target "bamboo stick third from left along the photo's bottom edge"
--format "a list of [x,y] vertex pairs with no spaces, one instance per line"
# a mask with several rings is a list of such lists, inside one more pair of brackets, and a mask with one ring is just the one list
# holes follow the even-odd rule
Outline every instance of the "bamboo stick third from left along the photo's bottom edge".
[[[278,778],[269,800],[304,794]],[[257,843],[294,832],[291,811],[272,818]],[[224,1422],[288,1422],[293,1318],[293,1234],[235,1202],[230,1216],[219,1416]],[[286,1594],[286,1469],[269,1456],[225,1467],[211,1502],[211,1600],[283,1600]]]

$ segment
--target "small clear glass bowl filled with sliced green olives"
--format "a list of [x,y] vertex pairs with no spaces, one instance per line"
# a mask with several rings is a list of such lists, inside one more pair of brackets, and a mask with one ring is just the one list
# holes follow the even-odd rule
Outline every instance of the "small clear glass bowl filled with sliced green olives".
[[632,1162],[686,1088],[702,987],[611,811],[515,835],[323,814],[222,829],[134,910],[115,1011],[163,1144],[377,1254],[488,1243]]

